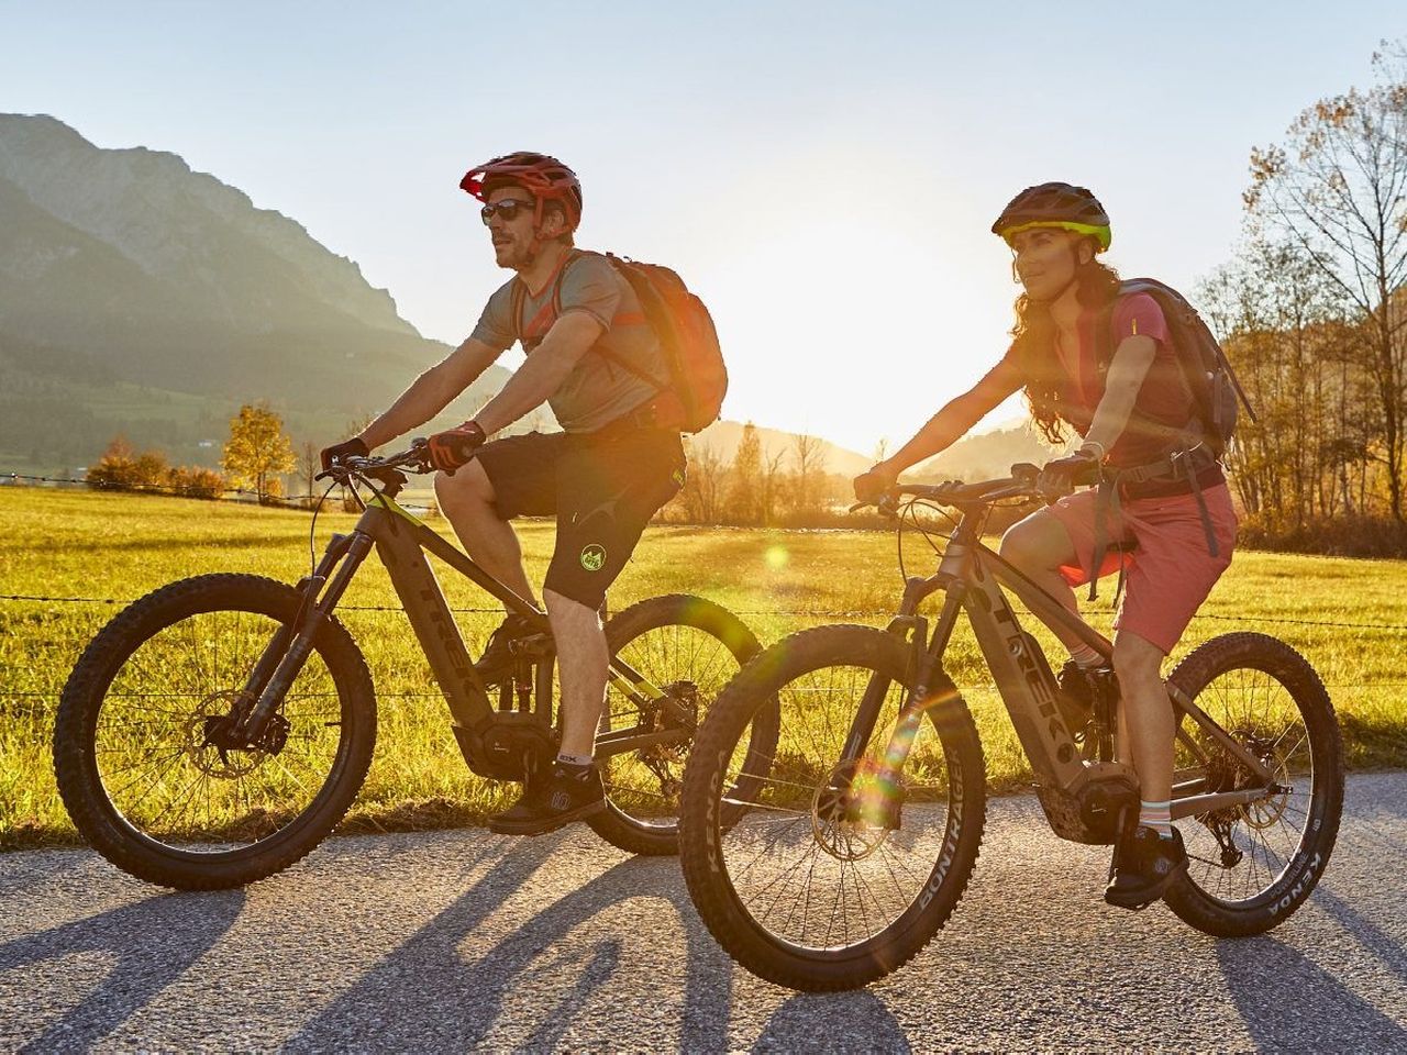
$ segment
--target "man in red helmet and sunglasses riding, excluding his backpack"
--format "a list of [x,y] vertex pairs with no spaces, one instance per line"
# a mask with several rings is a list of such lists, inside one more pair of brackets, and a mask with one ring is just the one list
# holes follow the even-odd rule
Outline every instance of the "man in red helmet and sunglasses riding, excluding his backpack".
[[[484,203],[494,257],[516,274],[463,345],[322,460],[364,456],[424,425],[522,342],[528,359],[502,391],[429,445],[436,499],[466,551],[533,603],[509,520],[557,519],[543,596],[561,679],[561,750],[490,821],[501,834],[535,836],[605,809],[592,761],[609,660],[599,612],[644,525],[682,485],[684,449],[678,430],[658,428],[647,409],[668,370],[639,300],[605,256],[574,246],[581,184],[571,169],[518,152],[476,166],[460,186]],[[563,432],[488,442],[543,402]],[[508,615],[476,664],[485,684],[512,677],[512,644],[529,633]]]

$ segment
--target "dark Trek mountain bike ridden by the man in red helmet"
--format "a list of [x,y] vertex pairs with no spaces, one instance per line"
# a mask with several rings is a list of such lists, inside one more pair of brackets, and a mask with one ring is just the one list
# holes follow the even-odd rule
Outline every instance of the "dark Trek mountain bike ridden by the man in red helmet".
[[[287,868],[333,829],[376,743],[371,677],[335,613],[373,549],[469,768],[525,781],[550,764],[559,736],[547,618],[395,501],[407,473],[429,471],[424,440],[390,457],[346,459],[324,475],[350,488],[362,515],[297,585],[198,575],[135,601],[98,632],[63,688],[53,764],[69,816],[100,854],[153,883],[219,889]],[[426,554],[532,623],[492,693]],[[605,633],[597,761],[606,810],[588,823],[629,852],[675,852],[695,729],[760,646],[737,616],[688,595],[632,605]],[[771,754],[775,712],[753,736]]]

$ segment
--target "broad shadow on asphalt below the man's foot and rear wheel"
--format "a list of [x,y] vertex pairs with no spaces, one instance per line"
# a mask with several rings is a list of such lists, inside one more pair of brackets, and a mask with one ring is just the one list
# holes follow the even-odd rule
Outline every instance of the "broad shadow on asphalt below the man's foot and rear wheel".
[[[367,1023],[378,1025],[374,1037],[366,1037],[369,1045],[381,1049],[476,1047],[502,1017],[505,997],[521,992],[552,1006],[535,1016],[540,1023],[536,1031],[515,1040],[515,1047],[556,1048],[592,1000],[599,1000],[599,990],[619,980],[625,948],[618,937],[594,945],[564,938],[587,920],[642,897],[673,904],[682,921],[681,1048],[726,1049],[733,966],[694,916],[673,858],[623,861],[484,948],[483,955],[466,958],[463,945],[476,948],[476,928],[532,881],[557,845],[557,840],[545,838],[514,847],[467,893],[366,971],[294,1035],[286,1051],[336,1048],[348,1037],[366,1035]],[[629,993],[618,999],[628,1000]],[[647,1023],[640,1027],[647,1028]]]

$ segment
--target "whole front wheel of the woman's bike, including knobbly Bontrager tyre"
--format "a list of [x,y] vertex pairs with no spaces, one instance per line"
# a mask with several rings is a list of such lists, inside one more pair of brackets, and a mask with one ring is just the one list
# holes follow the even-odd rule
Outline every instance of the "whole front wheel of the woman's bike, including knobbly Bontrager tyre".
[[[882,760],[912,689],[909,646],[864,626],[806,630],[729,685],[684,776],[681,858],[694,904],[753,973],[792,989],[855,989],[908,962],[947,921],[976,862],[982,747],[955,691],[929,701],[898,781]],[[860,701],[881,698],[858,751]],[[743,731],[778,701],[781,737],[749,758]]]

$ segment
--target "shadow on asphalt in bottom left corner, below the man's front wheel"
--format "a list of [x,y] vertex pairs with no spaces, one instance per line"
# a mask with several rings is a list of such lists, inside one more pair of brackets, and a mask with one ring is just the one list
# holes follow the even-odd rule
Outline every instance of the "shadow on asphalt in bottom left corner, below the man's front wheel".
[[[191,910],[191,902],[198,910]],[[87,999],[23,1051],[90,1048],[186,973],[229,930],[243,904],[243,890],[158,895],[0,945],[0,971],[82,952],[114,961]],[[35,1003],[44,1006],[39,999]]]

